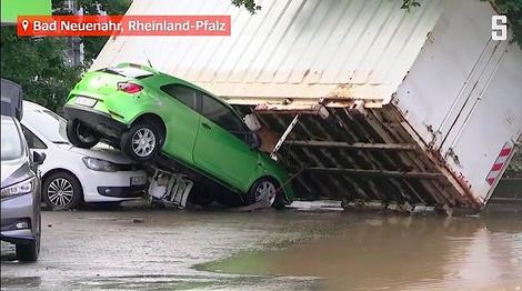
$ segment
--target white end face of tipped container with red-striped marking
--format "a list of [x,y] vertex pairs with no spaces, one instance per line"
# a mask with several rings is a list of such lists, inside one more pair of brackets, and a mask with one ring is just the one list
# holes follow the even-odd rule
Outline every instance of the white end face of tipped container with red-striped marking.
[[394,104],[485,203],[522,134],[522,51],[491,40],[491,6],[468,2],[445,2]]

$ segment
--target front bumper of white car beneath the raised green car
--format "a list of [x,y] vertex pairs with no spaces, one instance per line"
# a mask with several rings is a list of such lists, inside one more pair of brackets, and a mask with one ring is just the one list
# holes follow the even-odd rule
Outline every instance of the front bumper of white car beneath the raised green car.
[[83,181],[86,202],[112,202],[142,197],[147,190],[147,182],[131,184],[133,178],[147,181],[147,173],[145,171],[101,172],[87,170],[79,177],[80,181]]

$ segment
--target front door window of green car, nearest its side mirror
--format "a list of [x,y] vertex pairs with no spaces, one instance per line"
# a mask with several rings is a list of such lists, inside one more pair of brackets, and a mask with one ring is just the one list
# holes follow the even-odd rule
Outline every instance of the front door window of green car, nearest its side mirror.
[[202,97],[202,114],[212,120],[212,122],[217,123],[218,126],[222,127],[230,133],[237,136],[241,140],[244,140],[244,127],[243,122],[239,119],[239,117],[232,112],[228,107],[222,104],[221,102],[217,101],[215,99],[207,96],[201,94]]

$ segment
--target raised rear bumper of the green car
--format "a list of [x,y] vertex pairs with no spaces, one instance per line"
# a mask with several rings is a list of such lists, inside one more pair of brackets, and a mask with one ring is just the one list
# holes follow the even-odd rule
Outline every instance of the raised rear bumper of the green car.
[[89,107],[68,104],[63,108],[63,112],[68,120],[79,120],[106,138],[118,139],[127,129],[124,123],[113,119],[111,114]]

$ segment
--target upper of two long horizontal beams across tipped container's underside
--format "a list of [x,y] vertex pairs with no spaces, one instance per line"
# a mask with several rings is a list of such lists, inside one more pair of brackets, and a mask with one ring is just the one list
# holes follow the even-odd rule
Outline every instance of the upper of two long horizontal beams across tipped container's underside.
[[343,142],[343,141],[320,141],[320,140],[288,140],[284,146],[289,147],[318,147],[318,148],[344,148],[361,150],[402,150],[413,151],[415,146],[406,143],[365,143],[365,142]]

